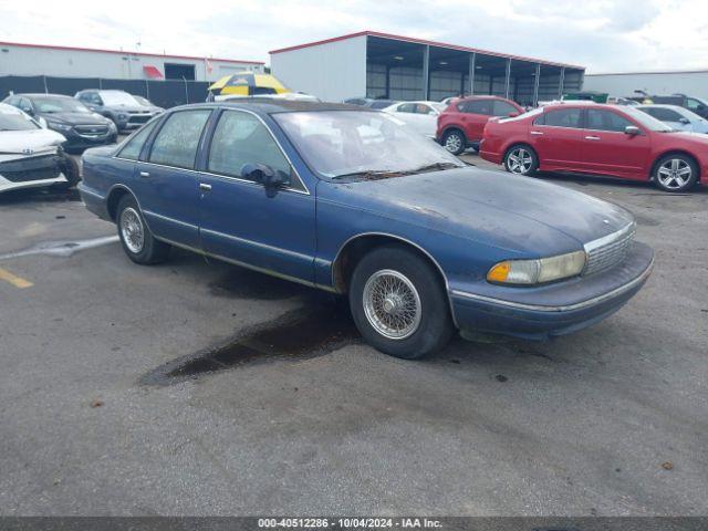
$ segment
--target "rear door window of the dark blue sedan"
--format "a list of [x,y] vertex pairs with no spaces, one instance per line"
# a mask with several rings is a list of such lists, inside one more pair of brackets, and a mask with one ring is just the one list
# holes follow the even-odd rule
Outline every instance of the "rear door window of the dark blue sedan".
[[208,108],[173,113],[153,142],[149,162],[192,169],[199,138],[210,114]]

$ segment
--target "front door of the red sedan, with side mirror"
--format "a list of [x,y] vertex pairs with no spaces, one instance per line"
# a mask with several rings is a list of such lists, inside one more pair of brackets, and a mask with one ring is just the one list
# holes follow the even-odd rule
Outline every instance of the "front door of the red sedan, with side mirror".
[[[646,179],[652,146],[642,126],[614,110],[587,108],[585,113],[584,166],[606,175]],[[626,134],[629,125],[639,127],[641,134]]]

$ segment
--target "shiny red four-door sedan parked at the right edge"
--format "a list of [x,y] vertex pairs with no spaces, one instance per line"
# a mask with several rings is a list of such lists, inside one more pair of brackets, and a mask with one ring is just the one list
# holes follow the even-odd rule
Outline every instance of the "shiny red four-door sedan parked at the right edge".
[[562,103],[492,121],[479,154],[512,174],[608,175],[653,180],[666,191],[708,175],[708,135],[674,131],[631,106]]

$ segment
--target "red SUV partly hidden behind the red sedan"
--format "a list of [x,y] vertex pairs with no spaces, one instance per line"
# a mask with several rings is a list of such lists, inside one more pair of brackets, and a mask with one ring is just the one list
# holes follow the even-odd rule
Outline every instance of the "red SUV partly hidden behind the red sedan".
[[436,138],[445,148],[459,155],[467,147],[479,149],[487,122],[492,116],[519,116],[523,107],[498,96],[469,96],[450,102],[438,116]]

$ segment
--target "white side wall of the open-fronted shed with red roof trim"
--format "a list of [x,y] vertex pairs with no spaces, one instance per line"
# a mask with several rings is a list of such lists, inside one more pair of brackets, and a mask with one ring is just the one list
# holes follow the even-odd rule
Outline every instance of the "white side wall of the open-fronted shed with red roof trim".
[[326,102],[366,95],[366,35],[272,53],[270,63],[292,91]]

